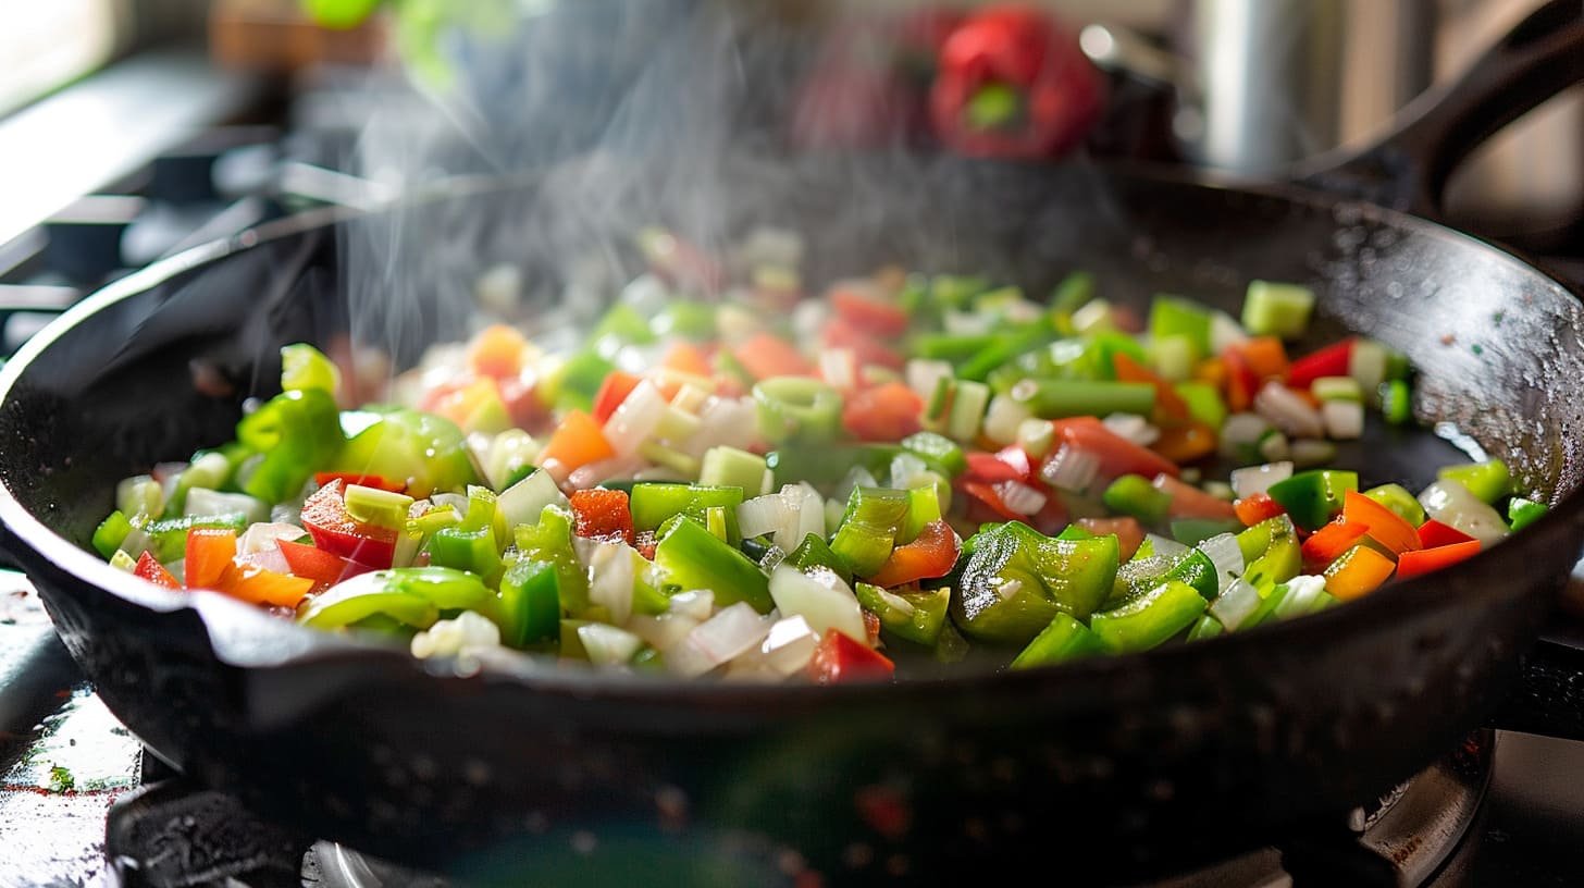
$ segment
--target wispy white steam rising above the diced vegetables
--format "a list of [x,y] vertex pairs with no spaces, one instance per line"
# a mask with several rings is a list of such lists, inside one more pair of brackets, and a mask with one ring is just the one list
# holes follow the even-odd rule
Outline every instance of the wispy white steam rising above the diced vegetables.
[[[809,113],[803,90],[830,51],[824,38],[841,35],[859,59],[873,49],[866,3],[817,27],[770,2],[516,6],[502,30],[444,30],[436,46],[453,60],[451,82],[425,101],[375,108],[356,146],[352,168],[385,193],[474,192],[404,201],[344,235],[353,338],[390,349],[398,366],[489,319],[482,276],[496,297],[521,290],[510,320],[535,338],[586,322],[642,268],[632,236],[645,225],[667,225],[713,255],[756,225],[798,227],[824,263],[816,282],[920,257],[993,273],[996,254],[1028,239],[942,214],[950,195],[971,200],[982,182],[914,151],[906,125],[876,128],[859,151],[809,149],[789,130]],[[836,105],[816,103],[816,117],[852,111],[840,103],[863,89],[843,84],[824,98]],[[906,124],[895,106],[876,108]],[[1090,186],[1093,205],[1109,205],[1098,179]],[[1057,220],[1041,235],[1095,219]],[[502,300],[485,303],[499,311]]]

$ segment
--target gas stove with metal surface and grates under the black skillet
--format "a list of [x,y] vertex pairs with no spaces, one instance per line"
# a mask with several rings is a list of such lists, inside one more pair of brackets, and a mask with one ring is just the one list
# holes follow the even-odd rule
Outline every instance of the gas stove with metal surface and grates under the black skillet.
[[[304,124],[303,108],[314,103],[298,103],[295,119],[277,109],[198,133],[0,244],[0,349],[11,354],[55,312],[128,270],[306,206],[356,205],[367,182],[336,165],[348,155],[352,130],[312,114]],[[1546,260],[1579,270],[1584,282],[1584,227],[1574,230],[1579,238],[1548,244]],[[1584,742],[1479,729],[1312,837],[1158,885],[1581,885],[1584,783],[1571,779],[1579,772]],[[578,834],[567,852],[592,859],[600,840]],[[106,710],[14,574],[0,582],[0,886],[478,883],[299,834],[174,772]],[[817,871],[775,845],[722,853],[760,885],[919,875],[865,847]],[[493,863],[491,883],[535,878],[532,859]]]

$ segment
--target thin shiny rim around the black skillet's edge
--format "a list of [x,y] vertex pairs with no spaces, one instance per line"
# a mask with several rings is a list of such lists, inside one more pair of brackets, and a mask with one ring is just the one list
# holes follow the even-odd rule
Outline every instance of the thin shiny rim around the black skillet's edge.
[[[1019,162],[974,162],[990,166],[1030,166],[1033,163]],[[1237,176],[1220,174],[1204,170],[1185,170],[1178,166],[1137,163],[1137,162],[1102,162],[1091,163],[1093,170],[1107,178],[1133,178],[1156,184],[1188,186],[1210,189],[1234,195],[1275,198],[1289,205],[1302,205],[1310,211],[1331,211],[1340,208],[1353,209],[1361,219],[1380,220],[1396,230],[1416,238],[1430,238],[1453,243],[1453,249],[1478,251],[1487,260],[1500,262],[1516,268],[1529,278],[1535,278],[1549,285],[1555,298],[1584,300],[1584,293],[1570,284],[1557,279],[1543,268],[1516,255],[1514,252],[1484,241],[1475,235],[1460,232],[1440,222],[1432,222],[1408,212],[1402,212],[1376,203],[1356,200],[1342,195],[1315,190],[1291,182],[1250,181]],[[402,203],[428,200],[464,200],[470,193],[527,184],[534,176],[507,178],[458,178],[436,186],[432,190],[406,198]],[[388,209],[388,208],[385,208]],[[79,323],[87,323],[101,309],[133,298],[165,281],[203,266],[223,262],[227,257],[247,251],[253,246],[298,236],[312,230],[322,230],[344,220],[364,217],[385,209],[363,211],[348,208],[318,208],[298,212],[284,219],[266,222],[227,239],[196,246],[179,255],[149,265],[120,281],[90,293],[71,306],[44,330],[32,336],[16,357],[0,368],[0,409],[5,409],[11,390],[22,374],[52,343],[65,336]],[[1549,298],[1549,297],[1546,297]],[[451,660],[423,661],[410,656],[402,647],[382,644],[366,637],[347,637],[333,633],[309,630],[296,623],[271,617],[244,603],[233,601],[220,593],[200,591],[198,595],[168,591],[152,584],[146,584],[111,568],[109,563],[93,553],[79,549],[63,536],[54,533],[25,509],[13,495],[5,477],[0,477],[0,550],[11,555],[10,544],[14,539],[25,547],[27,557],[36,557],[65,572],[71,582],[84,582],[103,590],[124,603],[160,614],[192,610],[209,636],[209,645],[215,658],[239,669],[268,669],[288,666],[309,666],[352,660],[356,663],[372,663],[390,660],[396,666],[406,664],[407,671],[425,674],[450,687],[451,682],[508,682],[521,685],[535,693],[562,693],[580,699],[632,699],[632,701],[676,701],[694,699],[705,704],[721,704],[725,701],[741,701],[743,704],[775,704],[797,701],[808,704],[825,701],[865,702],[885,698],[939,696],[952,693],[973,693],[980,685],[990,682],[1003,688],[1026,688],[1034,685],[1061,685],[1066,682],[1104,680],[1104,676],[1155,669],[1169,671],[1175,663],[1185,663],[1201,656],[1221,656],[1220,652],[1239,650],[1239,645],[1277,645],[1286,641],[1297,641],[1300,633],[1329,634],[1331,631],[1353,631],[1364,625],[1386,625],[1396,615],[1421,614],[1438,607],[1457,607],[1467,595],[1505,595],[1508,598],[1525,598],[1532,593],[1535,582],[1511,582],[1511,572],[1505,566],[1530,550],[1538,550],[1543,541],[1560,534],[1579,536],[1579,525],[1584,525],[1584,484],[1576,485],[1562,500],[1552,504],[1551,511],[1533,526],[1514,534],[1502,545],[1479,552],[1451,572],[1426,574],[1402,584],[1394,584],[1364,599],[1346,603],[1345,607],[1327,609],[1321,614],[1308,615],[1302,620],[1281,622],[1261,626],[1248,633],[1223,634],[1191,645],[1171,645],[1148,652],[1085,658],[1076,663],[1044,666],[1020,672],[1007,669],[968,669],[961,674],[939,677],[908,679],[901,682],[855,682],[835,687],[825,685],[760,685],[732,682],[697,682],[678,680],[672,677],[649,677],[634,674],[608,674],[594,669],[569,668],[551,663],[540,664],[542,658],[524,655],[512,656],[510,663],[486,660],[477,671],[458,671]],[[25,558],[19,558],[25,560]],[[1451,574],[1451,576],[1448,576]],[[1448,582],[1449,580],[1449,582]],[[266,628],[268,626],[268,628]],[[238,633],[249,641],[238,644]],[[1267,641],[1269,639],[1269,641]],[[276,641],[279,644],[265,644]],[[1148,664],[1148,666],[1145,666]],[[775,712],[773,707],[762,709]],[[802,710],[802,707],[798,709]]]

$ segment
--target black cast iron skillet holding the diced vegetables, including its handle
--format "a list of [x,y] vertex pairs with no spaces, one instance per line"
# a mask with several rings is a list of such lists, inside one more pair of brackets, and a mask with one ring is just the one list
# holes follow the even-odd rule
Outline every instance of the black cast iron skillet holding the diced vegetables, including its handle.
[[[1579,5],[1552,3],[1408,133],[1462,138],[1446,122],[1476,119],[1483,138],[1578,81],[1581,46]],[[1519,89],[1497,100],[1481,81],[1492,73]],[[763,160],[725,157],[697,179],[634,174],[599,217],[565,212],[613,170],[203,247],[89,298],[0,373],[5,549],[106,704],[162,758],[372,853],[475,871],[521,859],[523,878],[763,882],[738,853],[752,848],[843,872],[873,861],[854,871],[873,877],[1028,863],[1121,877],[1280,839],[1456,744],[1500,702],[1584,542],[1584,311],[1457,232],[1297,187],[944,159],[802,159],[767,176]],[[703,239],[795,225],[816,279],[898,260],[1041,292],[1090,268],[1115,300],[1172,290],[1223,308],[1251,278],[1304,281],[1321,293],[1316,338],[1346,328],[1407,352],[1422,373],[1416,414],[1443,433],[1376,433],[1353,454],[1365,482],[1422,485],[1454,458],[1446,438],[1472,439],[1552,511],[1454,571],[1293,623],[1060,669],[833,688],[534,663],[459,676],[157,590],[87,550],[119,477],[227,439],[242,400],[272,392],[280,344],[348,327],[344,244],[428,233],[432,262],[383,282],[393,292],[444,297],[510,260],[543,295],[562,257],[651,219]],[[356,322],[393,335],[398,360],[463,333],[445,300],[418,317],[364,306]]]

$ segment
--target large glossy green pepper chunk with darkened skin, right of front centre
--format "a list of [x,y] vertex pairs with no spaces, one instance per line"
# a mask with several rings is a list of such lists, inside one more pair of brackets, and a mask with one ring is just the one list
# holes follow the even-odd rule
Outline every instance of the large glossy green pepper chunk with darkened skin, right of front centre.
[[963,633],[998,644],[1028,644],[1057,614],[1088,617],[1117,576],[1115,534],[1069,541],[1020,522],[982,530],[952,595]]

